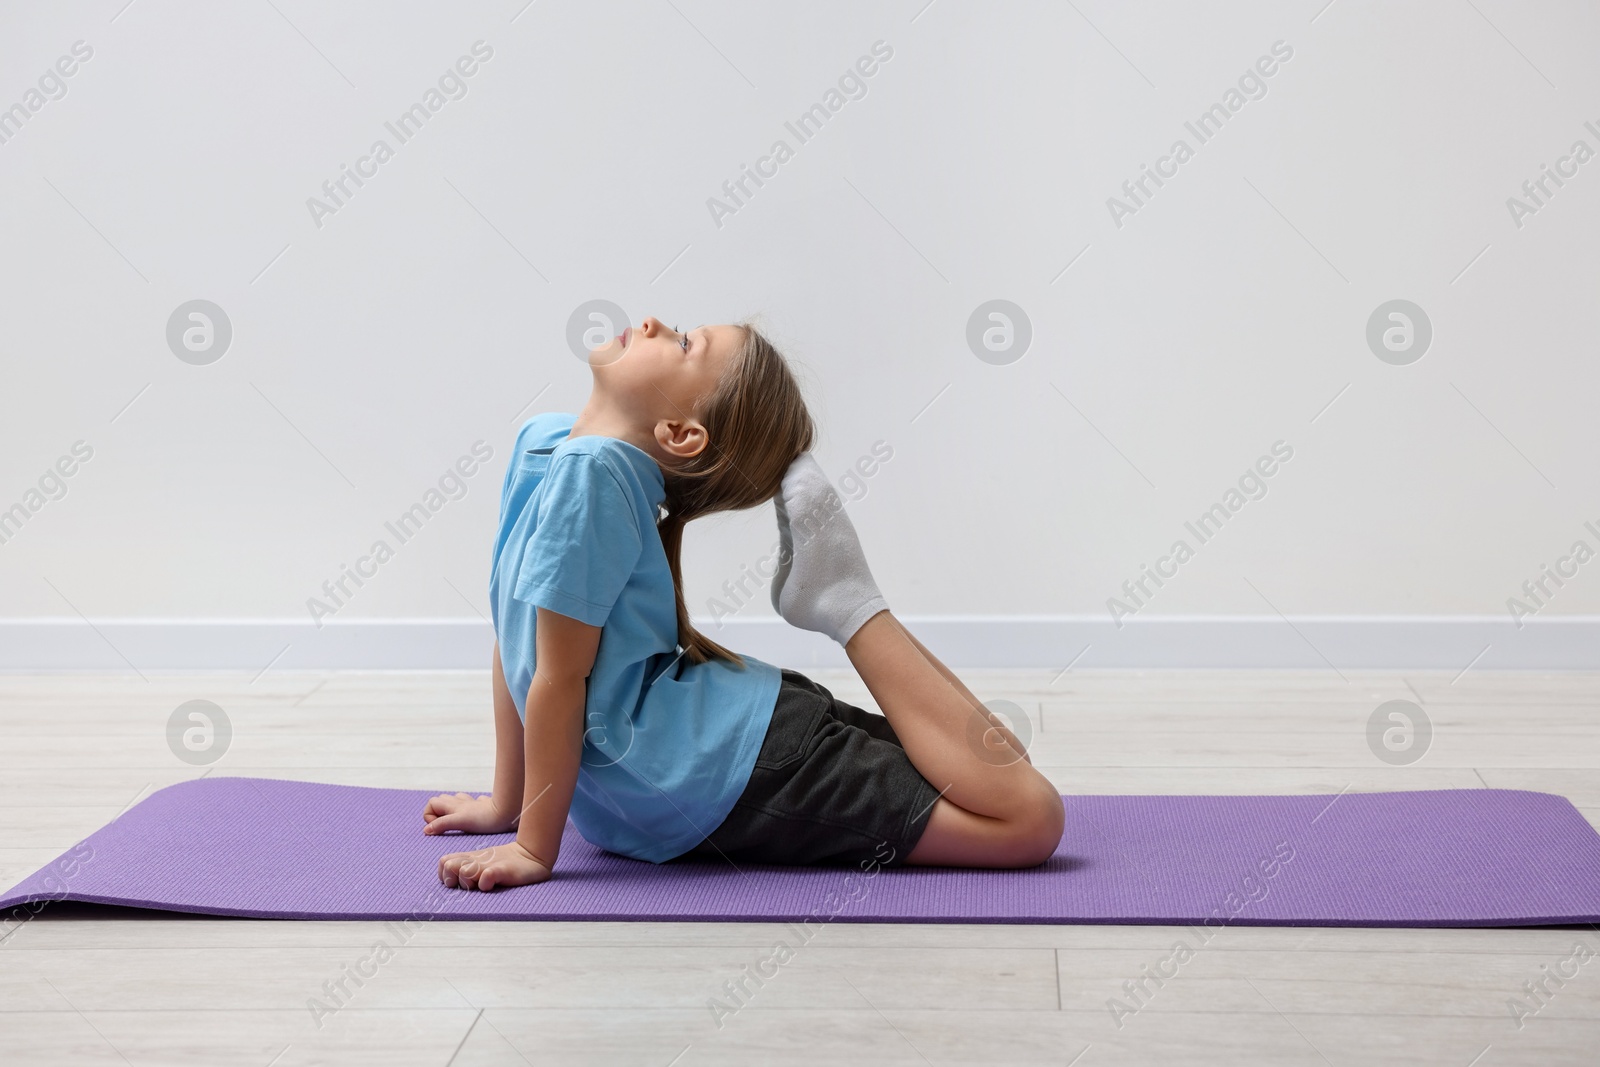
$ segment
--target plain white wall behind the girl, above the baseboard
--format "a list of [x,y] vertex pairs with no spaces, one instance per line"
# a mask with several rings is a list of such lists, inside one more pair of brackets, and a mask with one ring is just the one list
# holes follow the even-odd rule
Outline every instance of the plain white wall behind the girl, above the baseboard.
[[[0,509],[93,459],[0,544],[0,617],[307,621],[482,440],[466,498],[338,614],[475,617],[517,416],[582,405],[566,322],[603,298],[760,314],[824,467],[893,446],[851,515],[906,614],[1115,641],[1107,598],[1282,440],[1142,619],[1509,621],[1600,549],[1600,158],[1507,210],[1600,150],[1600,10],[1322,5],[11,5],[0,107],[93,58],[0,144]],[[480,40],[398,144],[386,120]],[[880,40],[798,144],[786,120]],[[1198,144],[1184,122],[1275,42],[1266,96]],[[394,158],[318,227],[307,198],[378,138]],[[1118,227],[1107,198],[1178,138],[1194,158]],[[776,139],[794,158],[714,222]],[[234,331],[203,366],[165,338],[197,298]],[[1008,365],[965,338],[995,298],[1032,323]],[[1411,365],[1366,344],[1390,299],[1432,322]],[[691,528],[698,614],[771,525]],[[1600,561],[1541,619],[1595,613]]]

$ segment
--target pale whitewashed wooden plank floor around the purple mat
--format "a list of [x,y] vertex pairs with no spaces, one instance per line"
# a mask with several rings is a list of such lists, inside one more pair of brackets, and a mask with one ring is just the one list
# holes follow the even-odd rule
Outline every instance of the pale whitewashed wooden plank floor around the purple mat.
[[[854,675],[808,673],[872,707]],[[1600,817],[1600,675],[963,677],[1026,709],[1066,793],[1510,787]],[[232,720],[210,769],[168,749],[189,699]],[[1389,699],[1432,721],[1414,765],[1368,749]],[[0,886],[202,773],[483,792],[493,776],[486,672],[0,675]],[[1181,929],[832,923],[718,1019],[709,1000],[781,926],[440,921],[318,1027],[307,1000],[379,931],[51,905],[0,942],[0,1062],[1600,1062],[1600,955],[1520,1027],[1507,1006],[1574,944],[1600,953],[1589,928],[1229,928],[1115,1019],[1107,1001]]]

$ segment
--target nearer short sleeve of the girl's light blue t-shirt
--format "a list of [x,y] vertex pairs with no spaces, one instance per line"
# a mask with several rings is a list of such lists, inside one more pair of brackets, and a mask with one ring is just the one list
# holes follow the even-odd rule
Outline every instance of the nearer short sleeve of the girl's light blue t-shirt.
[[642,552],[638,517],[622,483],[605,461],[568,453],[546,474],[515,595],[579,622],[605,625]]

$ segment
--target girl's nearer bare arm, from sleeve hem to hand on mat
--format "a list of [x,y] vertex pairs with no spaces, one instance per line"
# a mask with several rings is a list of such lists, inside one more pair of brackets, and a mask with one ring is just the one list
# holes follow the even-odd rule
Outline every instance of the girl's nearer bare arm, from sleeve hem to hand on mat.
[[[600,648],[600,627],[538,608],[534,640],[536,669],[523,705],[525,773],[517,840],[445,856],[438,861],[438,877],[446,886],[493,889],[531,885],[549,878],[555,867],[566,811],[578,787],[587,678]],[[504,742],[499,749],[504,758]],[[496,793],[502,785],[499,766],[496,763]]]

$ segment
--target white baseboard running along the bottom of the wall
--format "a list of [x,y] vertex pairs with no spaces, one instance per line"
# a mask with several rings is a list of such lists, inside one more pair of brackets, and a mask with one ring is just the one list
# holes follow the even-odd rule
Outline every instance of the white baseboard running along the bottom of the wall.
[[[902,616],[952,667],[1600,670],[1600,616]],[[776,617],[698,622],[784,667],[843,649]],[[0,670],[454,670],[490,662],[480,619],[0,619]]]

